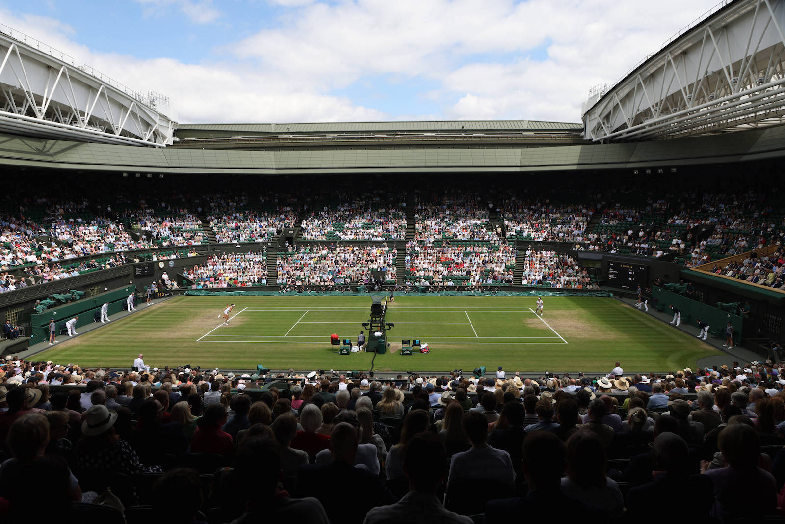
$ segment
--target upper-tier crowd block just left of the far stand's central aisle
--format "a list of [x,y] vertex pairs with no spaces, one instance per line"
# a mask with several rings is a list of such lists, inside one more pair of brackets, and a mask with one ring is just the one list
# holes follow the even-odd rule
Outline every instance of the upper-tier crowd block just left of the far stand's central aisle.
[[378,189],[352,197],[337,196],[338,202],[312,211],[302,222],[304,240],[390,240],[406,236],[405,193],[389,200],[389,192]]

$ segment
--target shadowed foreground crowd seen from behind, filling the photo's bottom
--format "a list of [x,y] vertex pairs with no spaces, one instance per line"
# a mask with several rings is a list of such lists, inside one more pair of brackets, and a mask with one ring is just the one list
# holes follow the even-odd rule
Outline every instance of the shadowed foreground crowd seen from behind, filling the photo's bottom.
[[[785,507],[783,373],[766,361],[630,375],[617,362],[594,378],[378,379],[0,361],[0,515],[28,514],[25,481],[46,471],[64,511],[112,484],[126,511],[165,511],[176,494],[186,522],[469,524],[555,508],[610,522],[673,493],[692,497],[685,519],[740,522]],[[261,390],[273,380],[292,386]]]

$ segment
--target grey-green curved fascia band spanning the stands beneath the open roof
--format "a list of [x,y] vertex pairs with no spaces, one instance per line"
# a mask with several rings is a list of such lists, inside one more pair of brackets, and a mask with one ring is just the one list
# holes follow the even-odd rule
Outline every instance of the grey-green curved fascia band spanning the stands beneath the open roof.
[[632,177],[632,170],[639,168],[664,170],[782,157],[785,126],[670,141],[546,148],[407,146],[289,151],[134,148],[0,134],[0,166],[133,174],[516,173],[630,168]]

